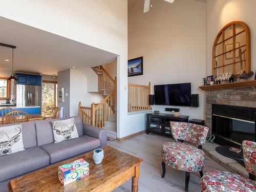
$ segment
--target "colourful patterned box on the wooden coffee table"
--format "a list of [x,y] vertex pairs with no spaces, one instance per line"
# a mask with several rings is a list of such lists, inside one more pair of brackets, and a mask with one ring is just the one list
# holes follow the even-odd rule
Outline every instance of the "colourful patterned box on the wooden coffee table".
[[87,175],[89,175],[89,163],[83,159],[58,166],[58,177],[63,185],[80,180]]

